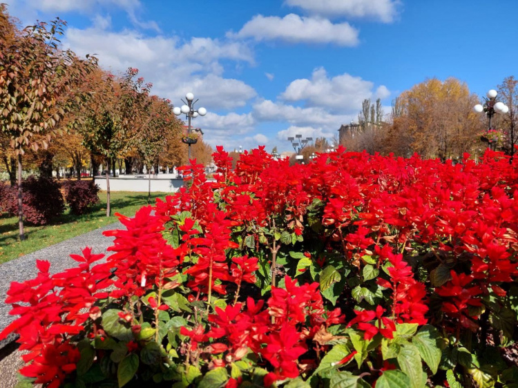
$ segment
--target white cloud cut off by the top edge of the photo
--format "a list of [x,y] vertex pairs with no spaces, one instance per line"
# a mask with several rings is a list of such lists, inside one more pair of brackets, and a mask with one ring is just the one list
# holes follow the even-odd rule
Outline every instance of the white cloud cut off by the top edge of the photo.
[[303,8],[327,17],[372,18],[391,23],[398,14],[399,0],[285,0],[288,6]]

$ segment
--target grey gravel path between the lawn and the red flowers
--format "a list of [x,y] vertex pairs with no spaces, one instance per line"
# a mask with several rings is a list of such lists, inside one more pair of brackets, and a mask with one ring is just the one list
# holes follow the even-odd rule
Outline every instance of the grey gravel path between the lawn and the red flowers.
[[[122,227],[120,222],[115,222],[114,224],[95,229],[95,231],[73,237],[70,240],[59,242],[28,255],[23,255],[21,258],[0,264],[0,331],[16,318],[9,315],[10,304],[4,303],[11,282],[23,282],[23,280],[35,278],[38,273],[36,268],[37,259],[48,260],[51,273],[64,271],[77,265],[77,262],[70,258],[70,253],[81,253],[81,249],[84,249],[85,246],[90,246],[93,249],[93,253],[105,253],[108,246],[111,246],[113,237],[105,237],[102,235],[102,232]],[[7,345],[8,342],[10,342],[10,338],[1,341],[0,349]]]

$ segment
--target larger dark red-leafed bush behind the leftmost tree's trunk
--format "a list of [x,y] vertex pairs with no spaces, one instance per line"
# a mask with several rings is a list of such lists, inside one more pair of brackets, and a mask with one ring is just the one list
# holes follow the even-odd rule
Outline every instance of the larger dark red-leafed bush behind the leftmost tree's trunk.
[[[65,203],[59,183],[46,177],[31,175],[21,184],[23,217],[34,225],[46,225],[63,214]],[[6,211],[18,214],[18,186],[8,189]]]

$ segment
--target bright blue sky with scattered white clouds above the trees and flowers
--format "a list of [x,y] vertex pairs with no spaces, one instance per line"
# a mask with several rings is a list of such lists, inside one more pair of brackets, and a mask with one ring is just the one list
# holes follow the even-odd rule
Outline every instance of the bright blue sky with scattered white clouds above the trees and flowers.
[[332,139],[365,98],[392,99],[427,78],[485,95],[518,64],[518,1],[3,0],[23,25],[57,16],[62,41],[104,68],[140,69],[173,104],[191,91],[212,146]]

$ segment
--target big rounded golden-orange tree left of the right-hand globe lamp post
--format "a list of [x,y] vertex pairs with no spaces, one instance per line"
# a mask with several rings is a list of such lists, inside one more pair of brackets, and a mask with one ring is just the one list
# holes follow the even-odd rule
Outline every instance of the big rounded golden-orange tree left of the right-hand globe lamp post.
[[461,157],[477,146],[481,119],[472,111],[477,96],[458,79],[427,79],[406,90],[393,108],[385,153]]

